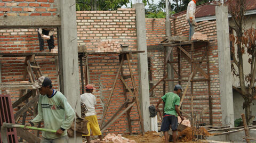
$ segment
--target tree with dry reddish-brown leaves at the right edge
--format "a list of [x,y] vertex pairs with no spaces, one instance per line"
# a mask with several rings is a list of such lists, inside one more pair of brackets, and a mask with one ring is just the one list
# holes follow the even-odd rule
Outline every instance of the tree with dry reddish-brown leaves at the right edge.
[[[228,0],[226,5],[228,6],[231,19],[234,22],[234,25],[229,25],[229,27],[236,33],[230,33],[230,41],[233,43],[231,46],[231,56],[234,61],[231,65],[231,70],[234,75],[239,78],[240,88],[233,88],[244,98],[243,108],[245,109],[246,122],[251,125],[254,119],[251,105],[256,95],[256,89],[254,87],[256,75],[256,29],[254,27],[247,30],[245,29],[245,0]],[[237,51],[235,51],[235,45]],[[244,73],[243,63],[243,55],[245,53],[250,57],[248,61],[250,64],[250,73],[247,75]]]

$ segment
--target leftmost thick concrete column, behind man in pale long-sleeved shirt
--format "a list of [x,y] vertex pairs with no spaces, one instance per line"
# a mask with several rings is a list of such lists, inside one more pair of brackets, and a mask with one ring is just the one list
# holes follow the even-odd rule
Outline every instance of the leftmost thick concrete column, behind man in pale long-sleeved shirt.
[[[61,45],[62,87],[69,104],[78,115],[81,115],[80,86],[78,72],[76,1],[60,1],[61,16]],[[76,107],[75,107],[76,106]],[[69,142],[82,142],[82,136],[70,138]]]

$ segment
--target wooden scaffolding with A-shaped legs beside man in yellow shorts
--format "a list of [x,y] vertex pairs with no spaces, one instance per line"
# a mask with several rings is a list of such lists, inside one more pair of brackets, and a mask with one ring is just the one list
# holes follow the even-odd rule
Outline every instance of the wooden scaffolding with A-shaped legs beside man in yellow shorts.
[[[111,92],[108,97],[106,106],[104,107],[105,110],[103,111],[103,115],[102,115],[102,120],[101,120],[102,122],[100,125],[102,132],[105,131],[107,128],[109,128],[109,126],[111,124],[113,124],[120,116],[122,116],[123,114],[126,113],[130,133],[132,133],[131,122],[133,122],[133,121],[138,121],[140,123],[142,134],[145,133],[144,127],[143,127],[143,119],[142,119],[141,111],[140,111],[139,99],[137,96],[138,89],[136,88],[136,85],[135,85],[135,81],[134,81],[134,77],[133,77],[132,69],[131,69],[131,62],[130,62],[130,60],[132,59],[132,54],[143,53],[143,52],[145,52],[145,51],[101,52],[101,53],[99,53],[99,52],[95,52],[95,53],[80,52],[78,54],[79,61],[80,61],[80,68],[81,68],[81,81],[82,81],[82,92],[83,93],[84,93],[84,87],[88,83],[88,76],[89,76],[88,64],[87,64],[88,56],[89,55],[118,55],[118,57],[119,57],[119,68],[118,68],[113,86],[111,88]],[[85,60],[83,60],[83,57],[85,57]],[[84,62],[85,62],[85,70],[83,70]],[[127,75],[124,74],[124,67],[123,67],[124,62],[127,62],[127,66],[128,66],[127,68],[129,68],[129,74],[127,74]],[[108,111],[109,103],[110,103],[111,97],[114,93],[114,89],[115,89],[115,85],[116,85],[116,81],[117,81],[118,77],[122,81],[122,84],[123,84],[123,94],[124,94],[125,100],[124,100],[123,105],[121,105],[119,107],[119,109],[115,112],[115,114],[113,116],[111,116],[111,118],[105,123],[104,122],[105,116]],[[127,82],[125,81],[126,79],[131,79],[132,85],[130,87],[127,84]],[[85,80],[85,82],[84,82],[84,80]],[[130,92],[132,94],[132,98],[129,99],[129,97],[127,96],[127,92]],[[138,115],[139,115],[138,120],[132,120],[130,117],[130,112],[131,112],[132,106],[134,104],[137,107],[137,111],[138,111]]]

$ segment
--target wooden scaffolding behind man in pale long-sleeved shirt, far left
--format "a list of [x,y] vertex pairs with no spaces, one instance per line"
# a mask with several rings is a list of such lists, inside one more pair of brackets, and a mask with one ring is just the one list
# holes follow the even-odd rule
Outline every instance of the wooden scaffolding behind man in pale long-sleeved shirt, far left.
[[[58,58],[57,53],[0,53],[1,57],[25,57],[25,72],[23,74],[23,81],[28,77],[29,81],[20,83],[0,83],[0,90],[6,90],[8,94],[9,90],[20,90],[20,97],[16,100],[12,107],[18,107],[18,111],[14,114],[15,123],[19,122],[22,118],[22,124],[25,124],[27,112],[29,112],[34,117],[37,115],[37,102],[39,99],[38,89],[34,89],[32,85],[37,79],[43,76],[41,67],[35,61],[36,56],[54,56],[55,60]],[[58,65],[57,65],[58,66]],[[58,70],[58,67],[57,67]],[[41,123],[38,124],[41,127]],[[17,129],[18,136],[25,139],[28,142],[40,142],[39,131],[36,131],[36,135],[30,133],[29,131],[24,131],[22,129]]]

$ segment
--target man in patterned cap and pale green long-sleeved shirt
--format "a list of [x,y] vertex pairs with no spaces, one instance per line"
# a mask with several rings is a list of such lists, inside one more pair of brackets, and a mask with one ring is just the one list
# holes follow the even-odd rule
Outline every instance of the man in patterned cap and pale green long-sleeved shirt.
[[57,90],[52,89],[52,81],[47,77],[38,78],[33,88],[39,89],[38,114],[25,124],[34,126],[41,121],[46,129],[57,130],[56,133],[44,132],[41,143],[68,142],[67,130],[70,128],[75,118],[75,112],[67,98]]

